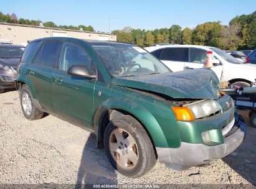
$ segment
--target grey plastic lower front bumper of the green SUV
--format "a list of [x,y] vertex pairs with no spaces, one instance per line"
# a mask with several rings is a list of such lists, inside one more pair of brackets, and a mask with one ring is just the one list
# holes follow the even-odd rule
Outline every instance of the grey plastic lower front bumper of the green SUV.
[[159,162],[170,168],[184,170],[192,166],[209,164],[212,160],[229,155],[242,144],[244,136],[245,129],[237,123],[229,134],[225,135],[223,144],[209,146],[181,142],[179,148],[156,147],[156,152]]

